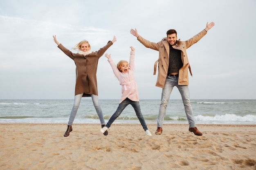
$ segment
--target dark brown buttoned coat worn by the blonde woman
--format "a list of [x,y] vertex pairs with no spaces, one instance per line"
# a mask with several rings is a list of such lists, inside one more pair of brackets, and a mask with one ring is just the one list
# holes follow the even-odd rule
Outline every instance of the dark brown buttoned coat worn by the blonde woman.
[[98,95],[96,77],[98,61],[112,44],[112,41],[109,41],[108,44],[99,49],[99,51],[92,52],[85,56],[78,53],[72,53],[62,44],[58,45],[58,48],[74,60],[76,64],[75,95],[81,93],[83,93],[83,97],[90,97],[91,94]]

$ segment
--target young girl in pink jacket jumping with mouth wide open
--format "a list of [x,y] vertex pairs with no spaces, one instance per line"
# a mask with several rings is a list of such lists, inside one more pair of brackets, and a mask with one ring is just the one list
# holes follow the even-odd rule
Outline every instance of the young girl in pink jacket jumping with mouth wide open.
[[146,122],[140,110],[138,88],[134,76],[135,49],[132,46],[130,46],[130,48],[132,50],[130,52],[130,64],[128,64],[127,61],[121,60],[116,66],[112,58],[110,58],[110,55],[105,54],[105,57],[108,58],[108,62],[110,63],[115,76],[117,77],[122,86],[122,97],[119,101],[119,106],[116,112],[110,117],[106,126],[101,128],[101,132],[106,132],[108,128],[110,128],[111,124],[115,121],[115,119],[117,119],[117,117],[119,117],[122,111],[126,108],[126,106],[128,106],[128,104],[131,104],[141,123],[141,126],[145,130],[146,135],[152,136],[147,128]]

